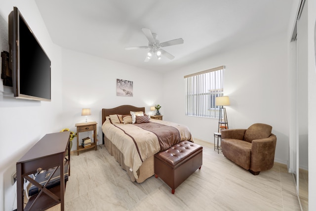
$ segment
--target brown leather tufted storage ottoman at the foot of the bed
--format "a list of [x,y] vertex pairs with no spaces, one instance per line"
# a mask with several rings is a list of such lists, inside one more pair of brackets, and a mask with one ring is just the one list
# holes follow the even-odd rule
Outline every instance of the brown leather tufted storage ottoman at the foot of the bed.
[[171,193],[197,169],[202,166],[203,147],[181,141],[154,158],[155,177],[158,176],[171,187]]

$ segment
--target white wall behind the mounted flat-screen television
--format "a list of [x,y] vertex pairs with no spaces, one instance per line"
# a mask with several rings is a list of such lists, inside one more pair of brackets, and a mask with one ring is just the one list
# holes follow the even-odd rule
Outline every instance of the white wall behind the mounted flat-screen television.
[[[38,102],[0,95],[0,210],[16,209],[16,162],[46,133],[61,127],[61,49],[51,42],[34,0],[0,0],[0,51],[9,51],[8,15],[17,6],[51,60],[52,100]],[[0,82],[0,94],[4,87]]]

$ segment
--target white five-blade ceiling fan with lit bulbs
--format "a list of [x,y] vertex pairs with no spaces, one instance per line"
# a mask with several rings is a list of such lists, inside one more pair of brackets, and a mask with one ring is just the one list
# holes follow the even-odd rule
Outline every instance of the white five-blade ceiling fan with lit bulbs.
[[161,58],[161,54],[169,59],[174,59],[174,56],[168,53],[167,51],[163,50],[161,47],[166,47],[175,44],[182,44],[183,39],[178,38],[175,40],[167,41],[167,42],[159,42],[157,40],[158,35],[152,33],[150,29],[142,28],[143,33],[145,34],[146,38],[148,39],[147,46],[136,46],[136,47],[125,47],[125,50],[134,50],[134,49],[142,49],[142,48],[150,48],[149,52],[147,53],[145,62],[148,62],[154,54],[156,54],[157,58]]

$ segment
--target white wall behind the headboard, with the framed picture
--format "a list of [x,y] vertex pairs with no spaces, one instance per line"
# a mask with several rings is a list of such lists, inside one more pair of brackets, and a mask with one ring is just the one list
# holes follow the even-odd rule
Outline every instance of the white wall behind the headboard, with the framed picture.
[[[150,107],[162,104],[162,76],[111,60],[63,49],[63,127],[76,131],[75,124],[84,122],[82,108],[91,108],[88,121],[96,121],[97,133],[102,144],[102,108],[119,105],[144,107],[150,114]],[[116,80],[133,82],[133,97],[117,96]],[[161,111],[163,112],[163,107]],[[87,133],[79,133],[79,140]],[[90,133],[91,135],[91,133]],[[77,140],[73,140],[72,150],[77,149]]]

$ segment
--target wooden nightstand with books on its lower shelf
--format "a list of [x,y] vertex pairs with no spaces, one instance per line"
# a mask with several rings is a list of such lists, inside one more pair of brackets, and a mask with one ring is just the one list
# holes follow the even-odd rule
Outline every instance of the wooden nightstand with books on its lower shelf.
[[[97,150],[97,123],[96,122],[89,122],[89,123],[77,123],[75,125],[77,127],[77,155],[79,155],[79,151],[95,148]],[[79,146],[79,132],[85,132],[85,131],[92,131],[93,130],[93,141],[91,143],[91,146],[83,147]]]

